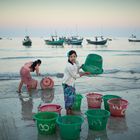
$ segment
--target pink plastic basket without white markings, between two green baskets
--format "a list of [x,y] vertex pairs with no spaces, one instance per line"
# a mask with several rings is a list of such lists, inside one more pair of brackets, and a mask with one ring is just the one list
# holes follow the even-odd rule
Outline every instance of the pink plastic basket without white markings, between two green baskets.
[[86,95],[88,108],[101,108],[102,94],[88,93]]

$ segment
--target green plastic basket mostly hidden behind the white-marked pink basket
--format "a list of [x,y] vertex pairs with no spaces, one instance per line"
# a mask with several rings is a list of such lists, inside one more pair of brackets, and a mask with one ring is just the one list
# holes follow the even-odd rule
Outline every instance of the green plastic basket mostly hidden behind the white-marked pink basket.
[[102,98],[104,100],[104,108],[105,108],[105,110],[110,111],[109,110],[109,104],[108,104],[107,101],[110,100],[110,99],[113,99],[113,98],[121,98],[121,97],[117,96],[117,95],[104,95],[104,96],[102,96]]

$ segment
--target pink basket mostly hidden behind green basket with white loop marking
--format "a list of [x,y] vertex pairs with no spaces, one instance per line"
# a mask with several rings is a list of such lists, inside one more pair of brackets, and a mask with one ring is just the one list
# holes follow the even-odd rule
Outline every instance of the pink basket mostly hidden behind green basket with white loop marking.
[[57,104],[45,104],[45,105],[41,105],[38,108],[38,110],[40,112],[57,112],[57,113],[61,114],[62,107]]

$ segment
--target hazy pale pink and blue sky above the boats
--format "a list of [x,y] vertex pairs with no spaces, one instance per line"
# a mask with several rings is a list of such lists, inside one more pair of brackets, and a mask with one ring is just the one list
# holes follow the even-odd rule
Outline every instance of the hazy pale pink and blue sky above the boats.
[[[25,29],[27,29],[25,31]],[[0,0],[0,36],[140,34],[140,0]]]

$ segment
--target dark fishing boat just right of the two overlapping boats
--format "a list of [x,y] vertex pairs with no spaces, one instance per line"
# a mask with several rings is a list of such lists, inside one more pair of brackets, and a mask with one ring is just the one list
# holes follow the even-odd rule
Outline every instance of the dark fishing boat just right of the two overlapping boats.
[[95,37],[95,40],[90,40],[90,39],[87,39],[87,42],[89,44],[94,44],[94,45],[105,45],[107,43],[107,39],[104,39],[102,36],[100,37],[101,39],[99,40],[98,39],[99,37]]

